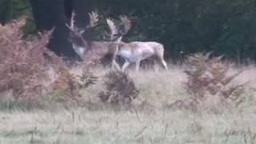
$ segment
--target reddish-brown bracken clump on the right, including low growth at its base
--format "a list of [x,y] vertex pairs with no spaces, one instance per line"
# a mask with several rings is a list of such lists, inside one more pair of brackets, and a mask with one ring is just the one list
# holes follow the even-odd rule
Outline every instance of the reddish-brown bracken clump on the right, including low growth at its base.
[[248,82],[233,82],[242,70],[230,74],[230,64],[222,62],[222,57],[210,58],[210,54],[198,53],[187,57],[184,70],[187,81],[183,84],[191,97],[178,100],[171,106],[198,110],[198,107],[207,106],[208,99],[218,101],[218,106],[238,106],[244,102]]

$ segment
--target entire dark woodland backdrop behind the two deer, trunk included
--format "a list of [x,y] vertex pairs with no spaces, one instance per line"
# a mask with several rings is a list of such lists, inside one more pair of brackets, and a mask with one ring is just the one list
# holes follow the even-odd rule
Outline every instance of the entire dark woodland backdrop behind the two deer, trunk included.
[[50,30],[49,48],[58,55],[75,58],[67,41],[72,10],[77,25],[85,26],[87,13],[96,10],[101,22],[85,38],[101,39],[105,18],[126,14],[133,22],[124,41],[156,41],[166,47],[173,62],[187,54],[213,51],[240,63],[256,60],[256,0],[0,0],[4,25],[27,15],[24,33]]

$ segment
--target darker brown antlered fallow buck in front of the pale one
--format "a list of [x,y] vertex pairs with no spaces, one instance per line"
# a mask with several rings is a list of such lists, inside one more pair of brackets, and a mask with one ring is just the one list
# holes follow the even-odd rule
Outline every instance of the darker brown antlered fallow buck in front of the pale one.
[[86,61],[86,65],[95,64],[102,58],[104,58],[107,54],[112,54],[112,69],[117,68],[120,70],[120,66],[115,61],[116,54],[118,52],[118,43],[117,42],[106,42],[106,41],[92,41],[88,42],[86,39],[82,37],[82,34],[86,29],[90,27],[94,27],[98,22],[98,14],[90,13],[90,24],[85,28],[77,28],[74,26],[74,12],[72,13],[70,26],[66,24],[66,26],[70,29],[70,42],[73,45],[74,51],[84,60]]

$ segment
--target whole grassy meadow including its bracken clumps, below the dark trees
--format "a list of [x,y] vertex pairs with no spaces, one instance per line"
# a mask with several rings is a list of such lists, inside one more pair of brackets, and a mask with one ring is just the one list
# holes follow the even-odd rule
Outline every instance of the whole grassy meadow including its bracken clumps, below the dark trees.
[[0,143],[256,142],[254,64],[198,54],[169,70],[89,70],[48,50],[50,32],[24,38],[25,23],[0,26]]

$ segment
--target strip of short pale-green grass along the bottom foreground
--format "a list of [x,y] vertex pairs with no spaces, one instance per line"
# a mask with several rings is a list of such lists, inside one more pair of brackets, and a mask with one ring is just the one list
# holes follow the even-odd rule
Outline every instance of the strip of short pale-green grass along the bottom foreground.
[[245,134],[250,142],[249,129],[253,137],[256,134],[255,114],[251,110],[222,114],[158,110],[154,114],[139,112],[139,121],[130,111],[83,108],[55,112],[14,110],[0,114],[1,143],[29,143],[32,139],[34,143],[234,144],[242,143]]

